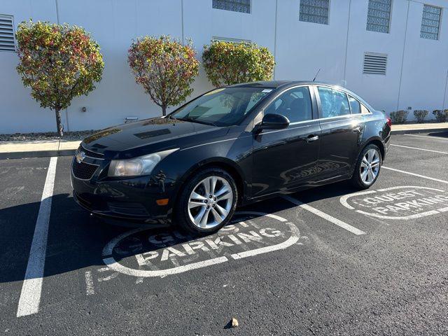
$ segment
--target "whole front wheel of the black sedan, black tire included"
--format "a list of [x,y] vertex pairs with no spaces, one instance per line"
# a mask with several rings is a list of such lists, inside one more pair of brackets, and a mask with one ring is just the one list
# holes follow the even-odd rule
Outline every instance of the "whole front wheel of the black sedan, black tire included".
[[221,168],[207,168],[186,181],[174,207],[174,221],[194,235],[210,235],[229,223],[237,200],[232,176]]

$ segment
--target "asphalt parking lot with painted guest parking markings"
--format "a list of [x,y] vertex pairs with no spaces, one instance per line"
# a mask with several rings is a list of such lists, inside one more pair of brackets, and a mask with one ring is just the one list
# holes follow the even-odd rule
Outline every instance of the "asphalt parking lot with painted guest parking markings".
[[0,160],[0,334],[447,335],[448,132],[392,144],[367,192],[277,197],[201,239],[92,218],[70,157]]

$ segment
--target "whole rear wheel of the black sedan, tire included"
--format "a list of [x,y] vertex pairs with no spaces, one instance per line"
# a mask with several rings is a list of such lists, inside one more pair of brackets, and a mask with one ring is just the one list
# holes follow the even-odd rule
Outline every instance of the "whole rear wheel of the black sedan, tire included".
[[383,158],[378,146],[370,144],[361,151],[356,162],[351,184],[358,189],[368,189],[377,181]]

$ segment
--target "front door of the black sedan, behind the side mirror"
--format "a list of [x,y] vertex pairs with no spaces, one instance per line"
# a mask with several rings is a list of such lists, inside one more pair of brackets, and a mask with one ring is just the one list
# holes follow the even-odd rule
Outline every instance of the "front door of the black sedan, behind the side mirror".
[[290,124],[283,130],[253,134],[253,197],[312,181],[316,177],[320,146],[316,100],[308,86],[286,89],[263,113],[286,116]]

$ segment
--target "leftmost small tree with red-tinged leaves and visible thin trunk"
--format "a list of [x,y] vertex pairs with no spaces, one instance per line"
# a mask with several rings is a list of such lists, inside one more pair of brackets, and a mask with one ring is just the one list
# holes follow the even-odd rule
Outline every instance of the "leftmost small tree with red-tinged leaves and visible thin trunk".
[[61,110],[73,97],[87,95],[102,78],[103,57],[99,45],[83,28],[49,22],[22,22],[17,31],[17,71],[31,97],[56,113],[57,133],[62,137]]

